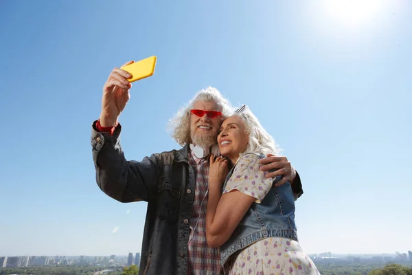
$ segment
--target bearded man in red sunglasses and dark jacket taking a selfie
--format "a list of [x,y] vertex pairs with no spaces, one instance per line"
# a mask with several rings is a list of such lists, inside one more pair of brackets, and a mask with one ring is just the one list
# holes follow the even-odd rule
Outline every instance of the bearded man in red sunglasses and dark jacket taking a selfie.
[[[124,203],[148,202],[139,274],[219,274],[219,250],[209,248],[205,236],[208,155],[214,153],[220,123],[232,107],[216,89],[203,89],[171,120],[172,136],[183,148],[128,161],[117,121],[130,98],[127,78],[130,74],[115,68],[104,84],[91,145],[101,190]],[[264,170],[276,168],[267,177],[283,175],[281,184],[291,182],[296,197],[303,193],[286,157],[268,156],[262,164]]]

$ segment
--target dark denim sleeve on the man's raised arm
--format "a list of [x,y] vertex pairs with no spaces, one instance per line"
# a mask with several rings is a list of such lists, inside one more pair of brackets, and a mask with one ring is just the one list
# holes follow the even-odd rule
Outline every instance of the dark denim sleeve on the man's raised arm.
[[141,162],[127,161],[120,145],[122,126],[113,135],[91,129],[91,146],[96,182],[109,197],[120,202],[149,201],[159,175],[156,155],[144,157]]

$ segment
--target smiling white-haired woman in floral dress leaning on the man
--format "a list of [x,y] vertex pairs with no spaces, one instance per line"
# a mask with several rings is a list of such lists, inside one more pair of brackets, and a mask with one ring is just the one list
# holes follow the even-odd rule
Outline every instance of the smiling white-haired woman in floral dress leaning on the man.
[[[289,183],[266,179],[259,160],[279,152],[246,106],[226,118],[210,158],[206,237],[225,274],[319,274],[297,242]],[[230,168],[230,171],[229,171]]]

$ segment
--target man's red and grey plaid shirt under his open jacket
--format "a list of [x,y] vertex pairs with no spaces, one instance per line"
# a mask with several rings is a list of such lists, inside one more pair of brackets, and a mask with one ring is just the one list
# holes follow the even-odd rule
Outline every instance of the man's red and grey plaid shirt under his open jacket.
[[[220,254],[218,248],[209,248],[206,241],[206,191],[209,186],[209,158],[198,159],[193,151],[189,164],[194,170],[193,214],[190,219],[190,235],[187,251],[187,274],[220,274]],[[203,201],[203,203],[202,203]],[[197,225],[196,225],[197,223]]]

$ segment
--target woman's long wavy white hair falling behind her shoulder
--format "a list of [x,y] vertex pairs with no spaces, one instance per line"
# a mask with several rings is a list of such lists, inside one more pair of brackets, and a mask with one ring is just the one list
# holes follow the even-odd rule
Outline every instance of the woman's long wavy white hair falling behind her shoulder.
[[276,156],[281,155],[282,149],[275,142],[273,137],[263,128],[258,118],[256,118],[247,105],[243,105],[237,109],[233,115],[238,116],[242,120],[245,126],[245,131],[247,131],[247,134],[249,135],[247,148],[240,154],[240,157],[247,153],[262,153],[265,156],[267,154]]

